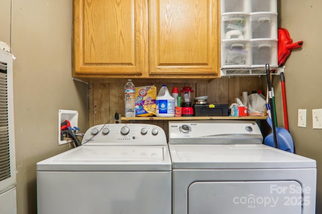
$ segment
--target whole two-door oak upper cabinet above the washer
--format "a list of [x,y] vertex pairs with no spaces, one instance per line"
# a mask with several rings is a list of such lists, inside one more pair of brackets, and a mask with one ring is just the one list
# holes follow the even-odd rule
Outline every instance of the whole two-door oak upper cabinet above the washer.
[[74,0],[73,76],[215,78],[219,0]]

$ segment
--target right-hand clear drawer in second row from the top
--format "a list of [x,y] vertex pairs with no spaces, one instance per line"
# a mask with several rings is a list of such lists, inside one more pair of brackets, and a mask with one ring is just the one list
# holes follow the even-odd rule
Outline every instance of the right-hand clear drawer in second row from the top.
[[252,13],[251,39],[277,39],[277,13]]

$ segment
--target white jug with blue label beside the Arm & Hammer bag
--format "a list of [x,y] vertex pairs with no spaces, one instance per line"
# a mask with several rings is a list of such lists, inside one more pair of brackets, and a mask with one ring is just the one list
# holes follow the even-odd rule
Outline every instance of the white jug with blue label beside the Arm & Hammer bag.
[[169,93],[167,85],[162,85],[155,101],[157,117],[175,116],[175,98]]

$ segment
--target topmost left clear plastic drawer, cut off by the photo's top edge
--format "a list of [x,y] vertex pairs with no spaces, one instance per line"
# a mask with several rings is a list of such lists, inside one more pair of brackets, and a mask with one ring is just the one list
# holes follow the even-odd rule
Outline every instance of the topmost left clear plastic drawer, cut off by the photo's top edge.
[[221,1],[221,13],[250,13],[250,0]]

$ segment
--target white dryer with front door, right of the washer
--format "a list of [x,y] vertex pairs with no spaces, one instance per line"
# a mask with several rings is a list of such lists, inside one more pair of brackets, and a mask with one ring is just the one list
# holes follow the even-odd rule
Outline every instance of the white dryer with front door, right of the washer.
[[262,140],[255,121],[169,122],[173,213],[315,213],[315,160]]

